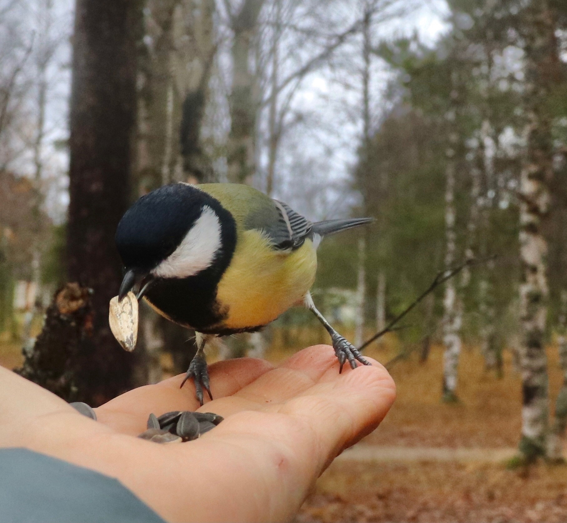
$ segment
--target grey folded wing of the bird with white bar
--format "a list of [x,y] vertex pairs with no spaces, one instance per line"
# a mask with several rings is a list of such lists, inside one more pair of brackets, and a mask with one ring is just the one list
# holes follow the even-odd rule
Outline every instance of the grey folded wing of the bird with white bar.
[[269,208],[248,217],[249,228],[261,229],[277,250],[293,250],[313,236],[313,224],[289,205],[270,200]]

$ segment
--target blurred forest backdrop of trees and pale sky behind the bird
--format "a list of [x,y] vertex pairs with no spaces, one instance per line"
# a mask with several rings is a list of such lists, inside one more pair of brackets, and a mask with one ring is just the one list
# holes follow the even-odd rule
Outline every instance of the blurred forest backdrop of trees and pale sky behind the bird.
[[[184,371],[189,335],[153,312],[142,312],[136,358],[109,336],[113,231],[164,183],[248,183],[314,220],[376,218],[320,247],[316,300],[357,343],[439,270],[496,255],[370,350],[422,362],[443,350],[439,398],[456,404],[463,350],[496,377],[510,354],[523,457],[561,454],[567,388],[550,411],[545,349],[558,336],[567,372],[563,2],[90,4],[0,0],[3,341],[32,351],[38,312],[78,281],[94,313],[82,398]],[[266,338],[325,339],[301,311]]]

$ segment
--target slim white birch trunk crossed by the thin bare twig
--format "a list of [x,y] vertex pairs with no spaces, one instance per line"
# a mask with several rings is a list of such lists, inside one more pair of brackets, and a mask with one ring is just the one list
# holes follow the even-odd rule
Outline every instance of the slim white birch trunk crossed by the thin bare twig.
[[[455,263],[456,233],[455,233],[455,162],[447,158],[445,191],[445,228],[446,254],[445,267],[449,269]],[[445,313],[443,315],[443,401],[456,401],[457,373],[461,349],[460,327],[462,316],[455,281],[449,279],[445,284]]]

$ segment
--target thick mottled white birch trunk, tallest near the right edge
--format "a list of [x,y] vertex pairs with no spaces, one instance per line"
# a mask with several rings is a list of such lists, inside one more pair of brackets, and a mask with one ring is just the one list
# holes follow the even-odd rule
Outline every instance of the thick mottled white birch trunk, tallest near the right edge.
[[552,116],[548,95],[558,65],[555,23],[547,0],[532,0],[523,12],[525,43],[526,155],[520,186],[520,257],[522,281],[522,437],[519,451],[526,461],[545,455],[548,432],[548,376],[545,323],[548,286],[547,242],[542,221],[549,210],[548,182],[553,175]]

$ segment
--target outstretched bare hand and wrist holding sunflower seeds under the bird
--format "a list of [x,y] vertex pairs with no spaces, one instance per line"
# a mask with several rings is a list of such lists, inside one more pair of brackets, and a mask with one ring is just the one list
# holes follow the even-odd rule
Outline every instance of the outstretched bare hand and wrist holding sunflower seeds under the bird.
[[[378,426],[395,398],[379,363],[345,369],[330,346],[273,367],[233,359],[209,367],[215,398],[199,408],[183,375],[127,392],[98,421],[0,367],[0,447],[28,447],[118,478],[167,521],[287,521],[342,450]],[[187,443],[135,436],[150,412],[215,412]]]

